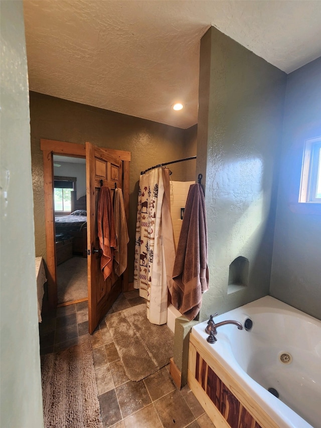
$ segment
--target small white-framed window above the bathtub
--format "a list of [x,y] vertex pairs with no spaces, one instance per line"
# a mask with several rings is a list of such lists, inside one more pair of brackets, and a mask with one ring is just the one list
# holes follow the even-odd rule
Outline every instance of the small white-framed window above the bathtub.
[[305,140],[299,202],[321,203],[321,137]]

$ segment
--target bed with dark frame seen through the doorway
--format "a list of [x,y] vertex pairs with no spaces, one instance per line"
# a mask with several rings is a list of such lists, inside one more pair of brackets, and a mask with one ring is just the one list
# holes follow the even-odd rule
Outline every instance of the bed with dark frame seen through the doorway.
[[74,208],[69,215],[55,217],[57,264],[73,254],[87,257],[86,196],[75,201]]

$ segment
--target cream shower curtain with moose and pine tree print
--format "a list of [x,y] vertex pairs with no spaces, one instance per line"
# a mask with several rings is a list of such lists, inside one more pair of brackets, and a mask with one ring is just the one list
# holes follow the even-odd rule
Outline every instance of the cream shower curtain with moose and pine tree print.
[[175,245],[170,209],[170,171],[155,168],[139,177],[134,288],[147,300],[147,319],[167,322],[168,281]]

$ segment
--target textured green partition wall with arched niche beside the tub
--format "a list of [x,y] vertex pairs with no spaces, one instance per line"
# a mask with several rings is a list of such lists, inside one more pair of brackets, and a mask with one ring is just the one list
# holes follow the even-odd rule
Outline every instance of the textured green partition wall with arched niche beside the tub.
[[[204,176],[210,290],[200,320],[269,293],[286,75],[210,28],[201,40],[197,172]],[[249,260],[228,294],[229,265]]]

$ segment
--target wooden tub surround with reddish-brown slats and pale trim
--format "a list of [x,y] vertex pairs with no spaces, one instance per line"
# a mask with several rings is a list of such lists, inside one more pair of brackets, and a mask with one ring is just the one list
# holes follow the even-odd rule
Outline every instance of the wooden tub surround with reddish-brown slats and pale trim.
[[188,384],[216,428],[278,428],[192,334]]

